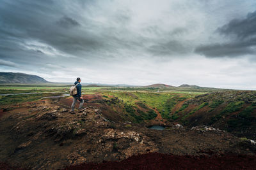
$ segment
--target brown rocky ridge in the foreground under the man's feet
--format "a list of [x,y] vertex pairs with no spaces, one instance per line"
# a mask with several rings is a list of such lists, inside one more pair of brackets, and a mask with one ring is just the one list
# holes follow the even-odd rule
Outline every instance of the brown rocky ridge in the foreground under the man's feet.
[[166,124],[164,131],[113,122],[102,108],[70,114],[58,101],[26,103],[0,120],[0,159],[31,169],[59,169],[86,162],[120,161],[143,153],[173,155],[255,155],[256,145],[214,129]]

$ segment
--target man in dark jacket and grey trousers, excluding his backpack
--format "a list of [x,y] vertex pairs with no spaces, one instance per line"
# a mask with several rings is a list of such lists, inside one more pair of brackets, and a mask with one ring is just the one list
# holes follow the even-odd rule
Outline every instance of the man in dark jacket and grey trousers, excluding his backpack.
[[74,113],[74,108],[75,108],[77,100],[79,100],[79,102],[80,102],[78,110],[79,110],[79,112],[82,111],[82,106],[84,104],[84,100],[83,100],[83,97],[81,96],[82,85],[80,84],[80,82],[81,82],[81,78],[77,78],[76,82],[74,83],[76,85],[77,94],[75,96],[73,96],[73,103],[71,105],[70,113]]

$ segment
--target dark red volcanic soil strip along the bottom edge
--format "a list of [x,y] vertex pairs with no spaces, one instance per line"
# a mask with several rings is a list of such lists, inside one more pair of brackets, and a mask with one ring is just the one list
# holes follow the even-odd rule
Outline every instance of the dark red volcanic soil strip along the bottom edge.
[[222,157],[192,157],[146,153],[120,162],[80,164],[71,169],[256,169],[256,157],[248,155],[225,155]]

